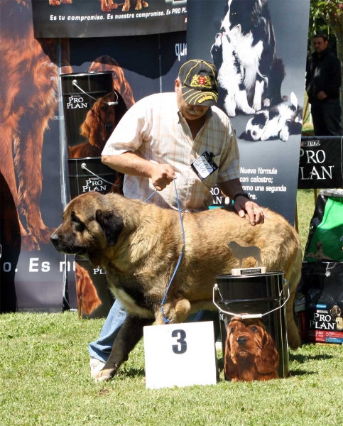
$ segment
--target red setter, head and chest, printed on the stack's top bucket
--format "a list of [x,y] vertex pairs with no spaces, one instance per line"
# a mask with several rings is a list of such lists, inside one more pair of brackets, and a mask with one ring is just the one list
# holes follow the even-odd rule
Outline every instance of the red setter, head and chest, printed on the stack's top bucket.
[[[104,102],[116,102],[107,105]],[[127,108],[118,92],[108,93],[99,98],[89,109],[85,121],[81,125],[81,134],[88,142],[69,148],[69,158],[99,157],[112,131],[126,113]]]

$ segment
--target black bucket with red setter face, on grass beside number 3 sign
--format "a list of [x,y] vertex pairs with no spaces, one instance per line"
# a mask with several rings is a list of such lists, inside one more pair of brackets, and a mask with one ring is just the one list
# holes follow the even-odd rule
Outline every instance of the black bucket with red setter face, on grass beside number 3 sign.
[[265,381],[289,373],[283,272],[219,275],[213,302],[219,309],[225,378]]

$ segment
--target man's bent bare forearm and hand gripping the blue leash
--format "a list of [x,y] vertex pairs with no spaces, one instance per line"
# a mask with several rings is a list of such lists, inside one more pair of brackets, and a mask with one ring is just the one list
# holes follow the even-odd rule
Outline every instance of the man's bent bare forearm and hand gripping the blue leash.
[[175,172],[170,165],[152,163],[131,152],[102,155],[102,163],[125,175],[150,178],[158,191],[164,190],[175,179]]

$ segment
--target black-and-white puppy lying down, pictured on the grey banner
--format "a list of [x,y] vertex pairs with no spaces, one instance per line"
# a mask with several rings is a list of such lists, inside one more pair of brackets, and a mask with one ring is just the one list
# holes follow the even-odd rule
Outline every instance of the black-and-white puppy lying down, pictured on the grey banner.
[[288,141],[290,135],[301,133],[302,127],[303,108],[299,107],[298,98],[292,92],[290,105],[273,105],[256,112],[239,137],[246,141],[268,141],[273,138]]

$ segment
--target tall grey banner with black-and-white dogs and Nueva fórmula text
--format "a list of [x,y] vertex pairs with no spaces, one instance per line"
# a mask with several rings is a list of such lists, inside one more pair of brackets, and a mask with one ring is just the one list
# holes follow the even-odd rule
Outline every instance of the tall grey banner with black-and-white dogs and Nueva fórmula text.
[[[294,223],[310,0],[187,1],[187,58],[214,62],[252,200]],[[206,37],[204,37],[206,34]]]

